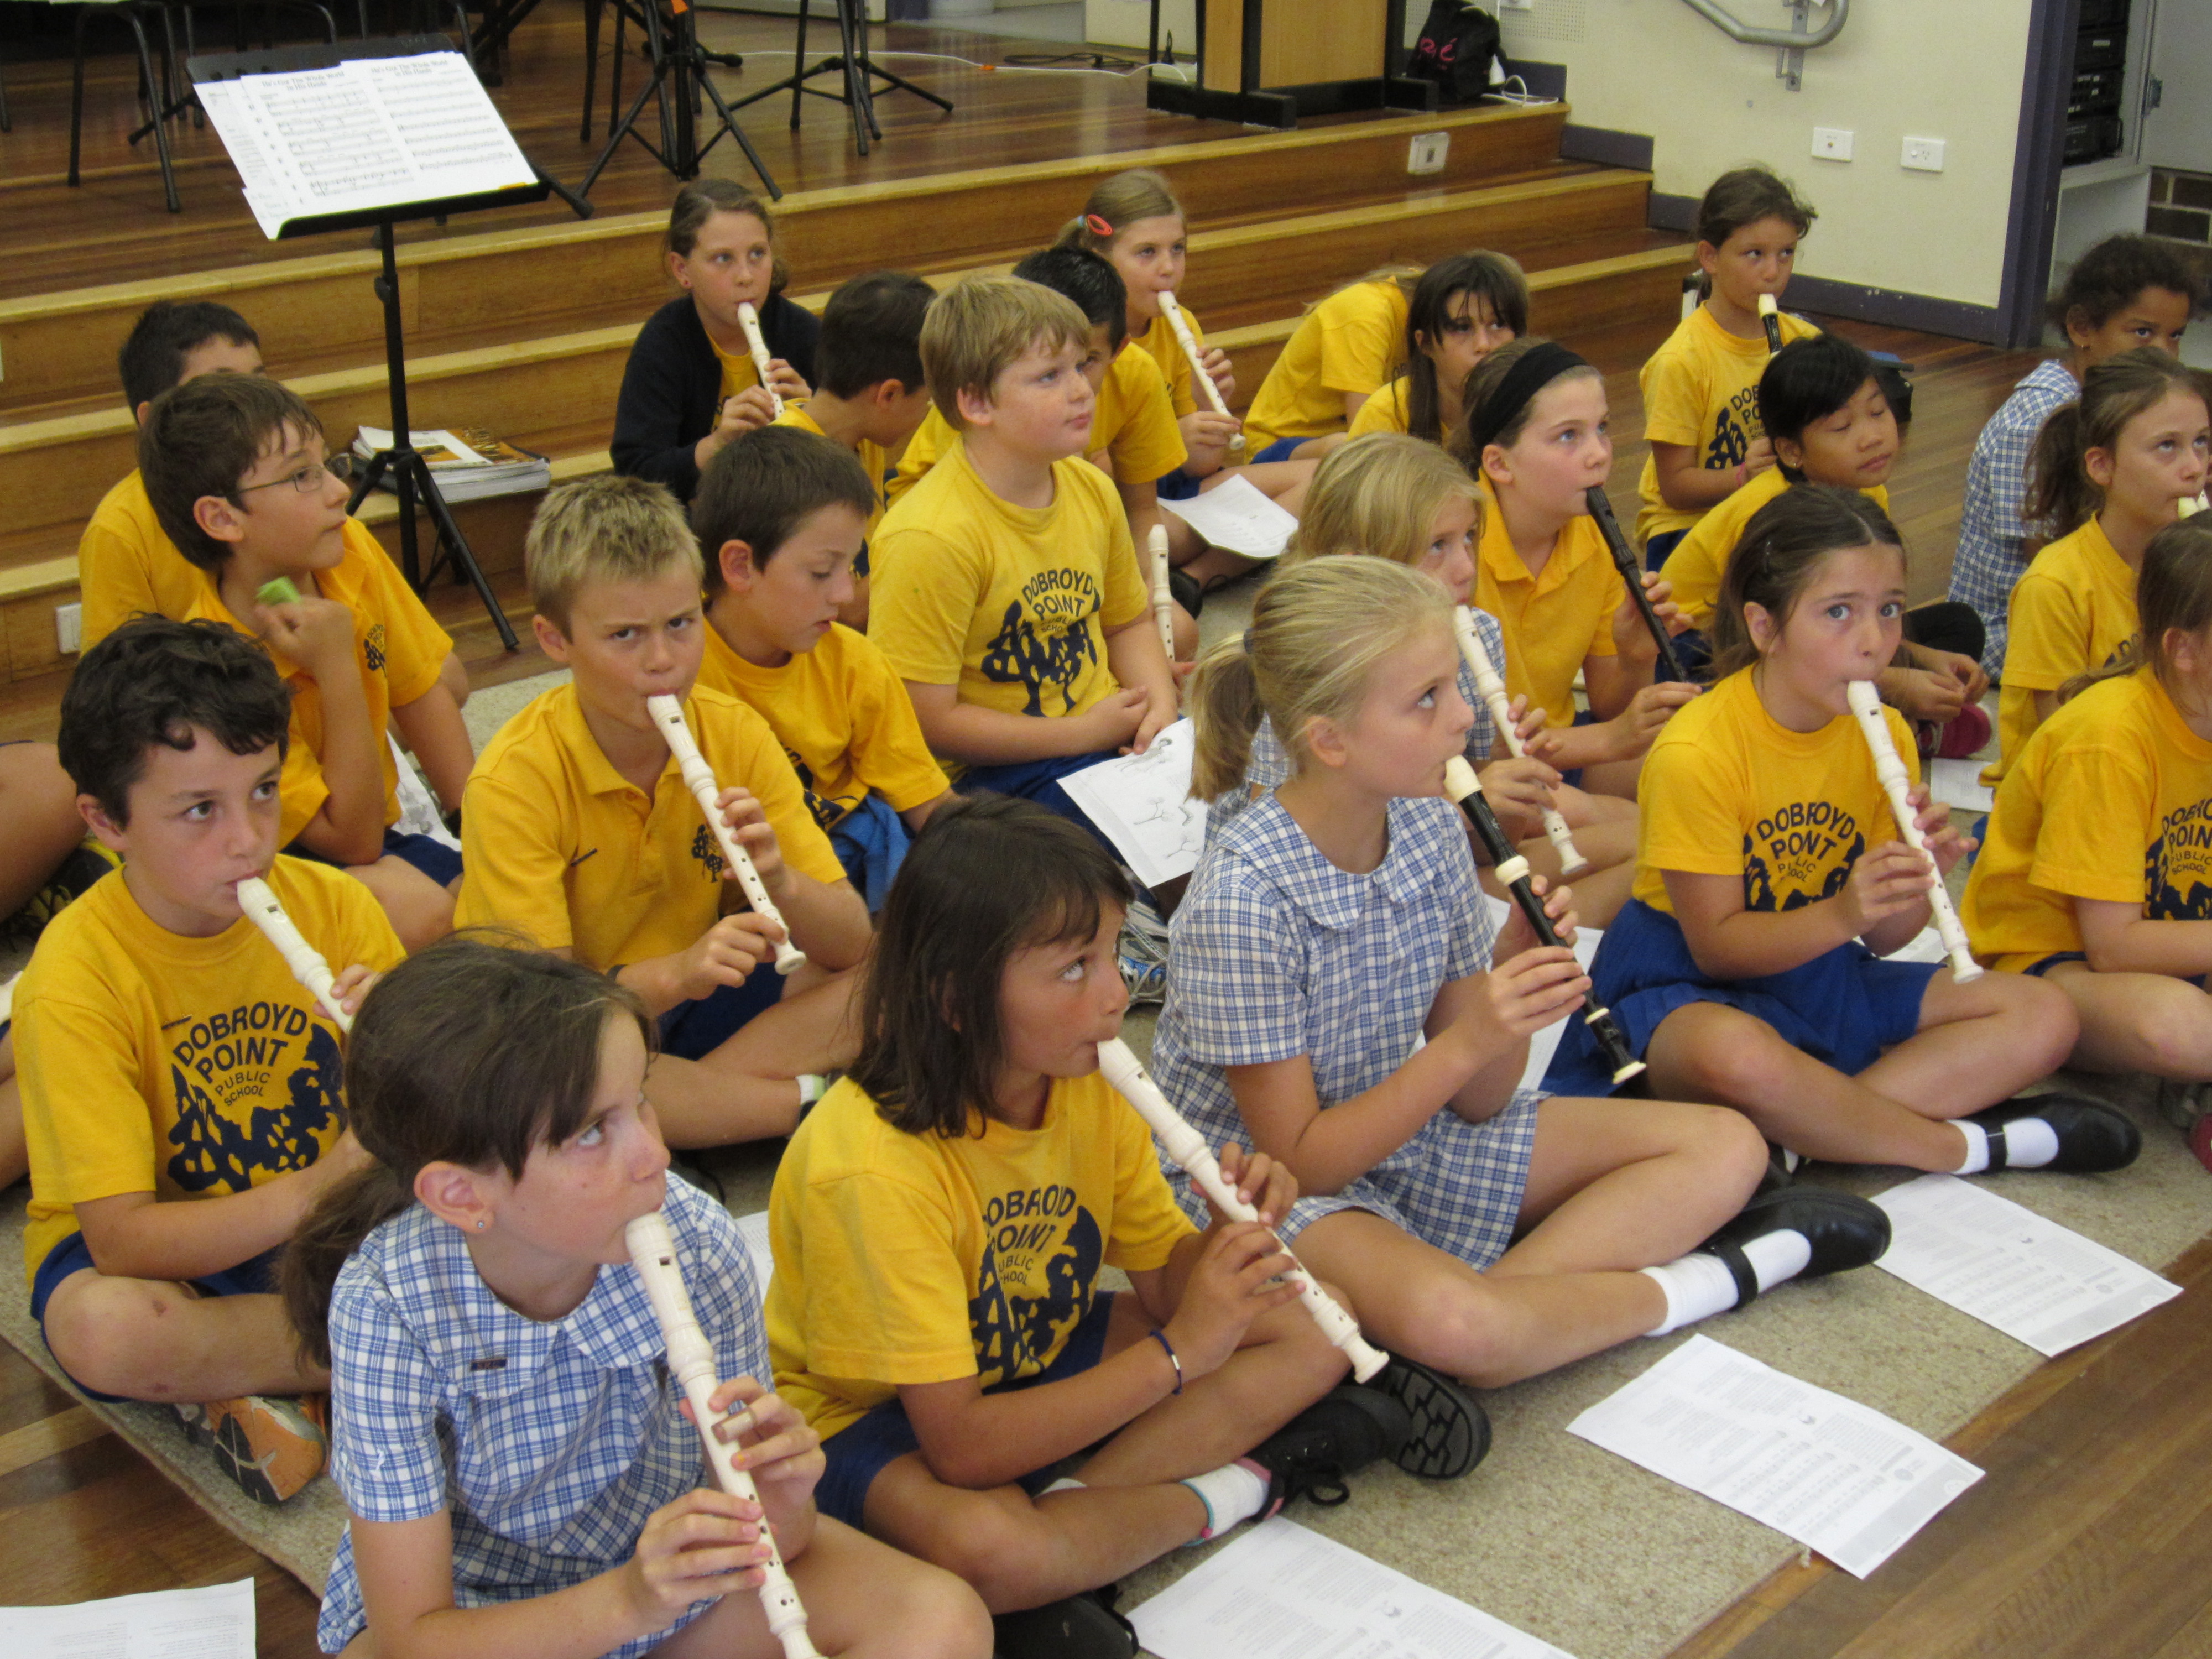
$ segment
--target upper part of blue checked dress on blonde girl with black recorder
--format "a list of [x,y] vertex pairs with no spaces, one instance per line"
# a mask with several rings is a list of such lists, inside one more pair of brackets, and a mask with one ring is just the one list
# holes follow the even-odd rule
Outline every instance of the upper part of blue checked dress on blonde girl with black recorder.
[[1389,852],[1352,876],[1261,796],[1175,911],[1152,1071],[1208,1146],[1250,1146],[1223,1066],[1307,1055],[1323,1108],[1352,1099],[1407,1062],[1436,993],[1482,973],[1495,933],[1449,801],[1391,801]]

